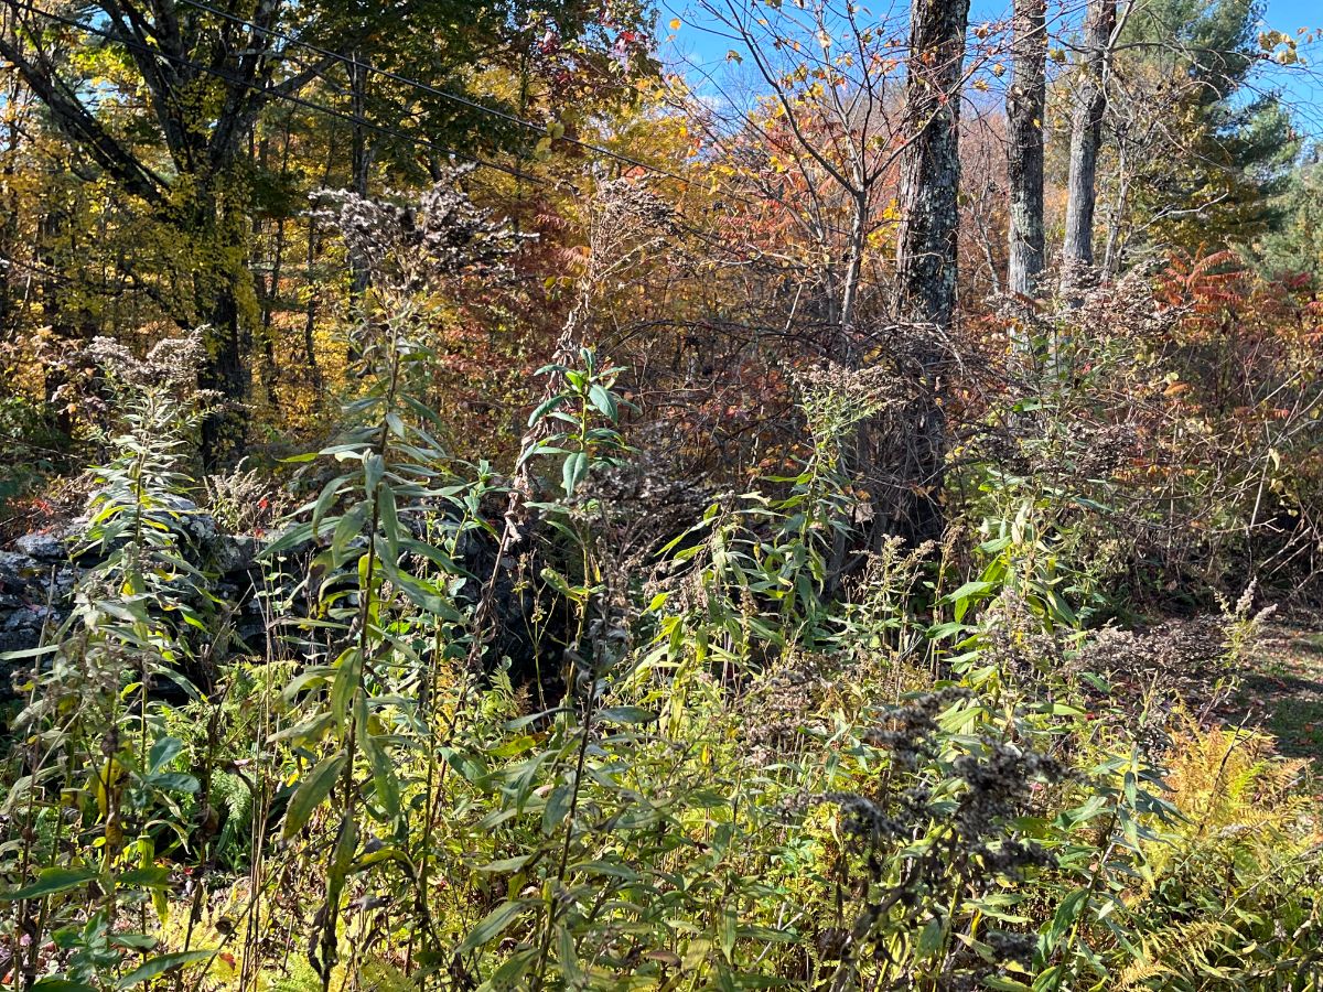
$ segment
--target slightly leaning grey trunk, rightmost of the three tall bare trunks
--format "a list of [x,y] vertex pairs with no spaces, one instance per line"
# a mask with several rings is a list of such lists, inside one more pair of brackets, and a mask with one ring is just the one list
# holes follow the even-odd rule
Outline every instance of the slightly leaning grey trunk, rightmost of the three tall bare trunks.
[[1062,246],[1064,278],[1069,283],[1093,267],[1093,218],[1097,206],[1098,145],[1107,110],[1106,65],[1117,26],[1117,0],[1089,0],[1084,58],[1076,83],[1070,124],[1070,177],[1066,183],[1066,237]]

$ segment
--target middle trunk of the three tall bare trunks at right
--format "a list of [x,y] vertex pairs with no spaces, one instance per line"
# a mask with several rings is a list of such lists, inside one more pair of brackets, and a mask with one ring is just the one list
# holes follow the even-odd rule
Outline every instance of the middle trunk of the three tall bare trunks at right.
[[1043,118],[1048,78],[1048,0],[1015,0],[1011,91],[1007,94],[1007,173],[1011,181],[1011,292],[1032,296],[1044,265]]

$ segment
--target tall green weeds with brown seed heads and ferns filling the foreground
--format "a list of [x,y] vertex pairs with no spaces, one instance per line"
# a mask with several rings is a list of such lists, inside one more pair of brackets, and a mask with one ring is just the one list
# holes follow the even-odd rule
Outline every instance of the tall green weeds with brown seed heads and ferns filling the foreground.
[[[992,462],[943,541],[839,575],[877,382],[798,373],[794,468],[696,497],[632,446],[587,284],[519,462],[452,459],[429,300],[519,235],[448,186],[327,217],[373,265],[360,372],[291,466],[265,643],[192,553],[196,340],[102,362],[95,563],[4,765],[4,984],[1323,988],[1304,768],[1216,720],[1253,590],[1203,640],[1109,627],[1098,493]],[[1020,405],[1036,450],[1069,402]]]

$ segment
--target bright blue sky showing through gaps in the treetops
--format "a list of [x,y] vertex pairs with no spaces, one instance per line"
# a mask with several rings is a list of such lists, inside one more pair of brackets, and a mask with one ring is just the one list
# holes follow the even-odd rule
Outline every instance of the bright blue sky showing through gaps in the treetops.
[[[868,4],[869,0],[865,0]],[[905,9],[908,0],[873,0],[882,7]],[[730,40],[712,33],[709,17],[697,12],[695,0],[659,0],[662,28],[665,32],[672,19],[681,21],[675,40],[664,44],[663,57],[681,58],[676,67],[687,75],[720,67],[725,54],[737,48]],[[1009,0],[974,0],[972,20],[996,20],[1004,16]],[[1267,0],[1263,26],[1295,34],[1298,28],[1323,33],[1323,7],[1319,0]],[[1298,127],[1306,134],[1323,138],[1323,40],[1302,46],[1301,53],[1311,62],[1307,67],[1266,66],[1259,74],[1259,89],[1281,90],[1295,112]],[[688,69],[687,65],[688,63]]]

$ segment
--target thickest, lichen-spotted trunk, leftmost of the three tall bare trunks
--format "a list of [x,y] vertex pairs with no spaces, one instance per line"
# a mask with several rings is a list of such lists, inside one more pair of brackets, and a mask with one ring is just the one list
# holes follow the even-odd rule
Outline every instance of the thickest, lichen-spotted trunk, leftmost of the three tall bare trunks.
[[960,77],[968,15],[970,0],[914,0],[910,13],[905,95],[910,144],[901,160],[896,274],[902,333],[916,336],[916,347],[902,351],[914,356],[918,399],[885,526],[916,544],[938,537],[943,522],[945,339],[957,303]]

